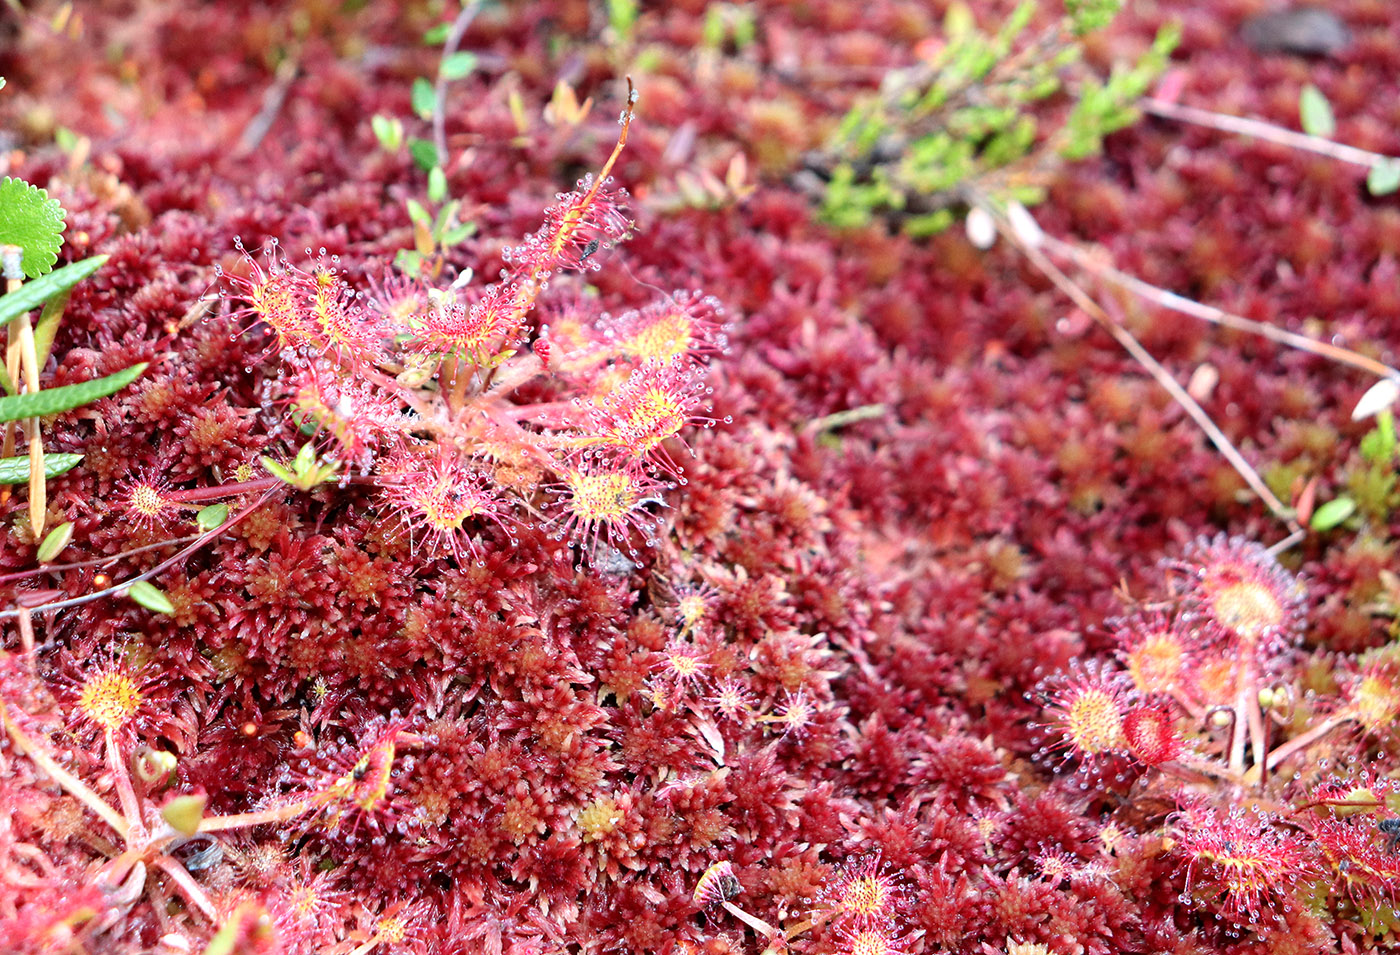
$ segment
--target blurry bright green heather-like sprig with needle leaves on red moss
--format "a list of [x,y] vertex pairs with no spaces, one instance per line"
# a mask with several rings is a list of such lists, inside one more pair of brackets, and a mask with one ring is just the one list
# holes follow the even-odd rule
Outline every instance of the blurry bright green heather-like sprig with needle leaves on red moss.
[[[1138,63],[1095,76],[1081,63],[1082,36],[1117,7],[1070,3],[1064,17],[1032,31],[1037,6],[1028,1],[995,32],[979,29],[967,7],[951,7],[939,52],[890,73],[841,123],[822,157],[826,218],[858,227],[883,214],[917,235],[951,225],[974,195],[1039,202],[1056,168],[1096,154],[1105,136],[1137,119],[1135,101],[1176,46],[1166,29]],[[1068,112],[1050,109],[1065,92]]]

